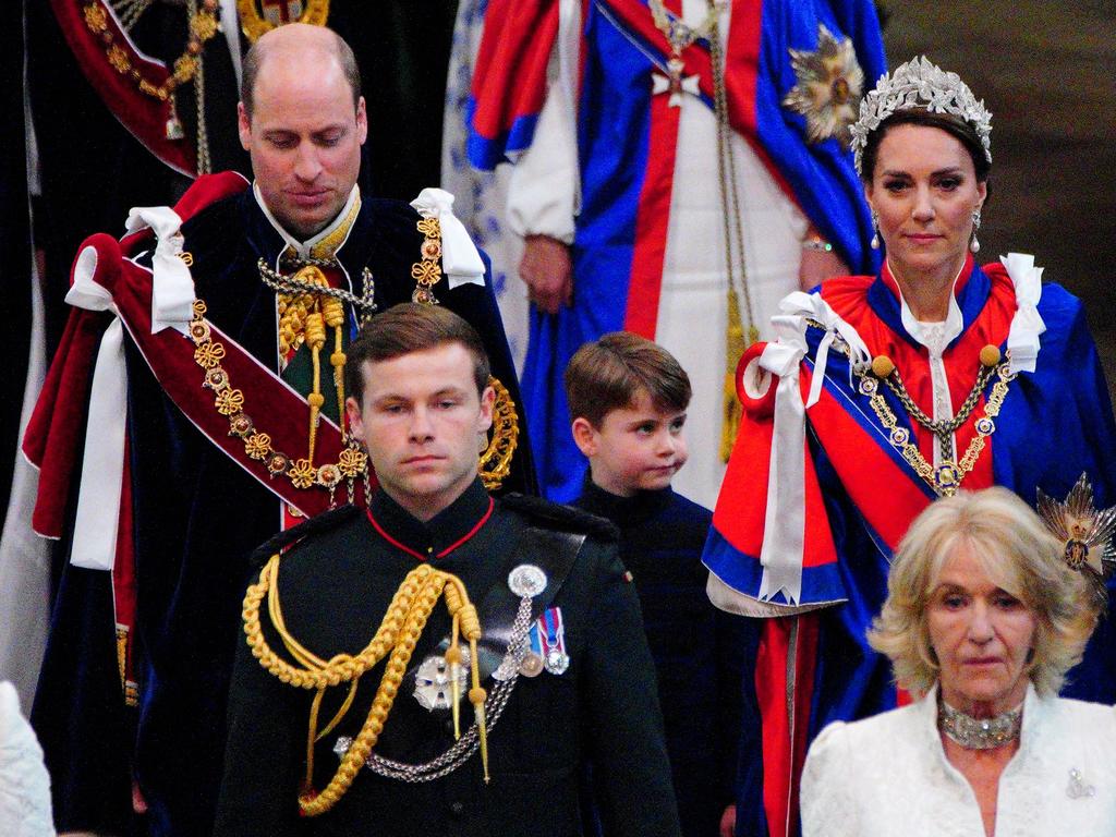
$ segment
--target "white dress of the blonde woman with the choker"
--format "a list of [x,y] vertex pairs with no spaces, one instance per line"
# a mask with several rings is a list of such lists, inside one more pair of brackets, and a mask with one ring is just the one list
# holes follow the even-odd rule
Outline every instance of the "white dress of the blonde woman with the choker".
[[[984,837],[972,787],[945,759],[936,687],[910,706],[826,727],[806,759],[801,815],[805,837]],[[1116,835],[1114,708],[1028,687],[995,835]]]

